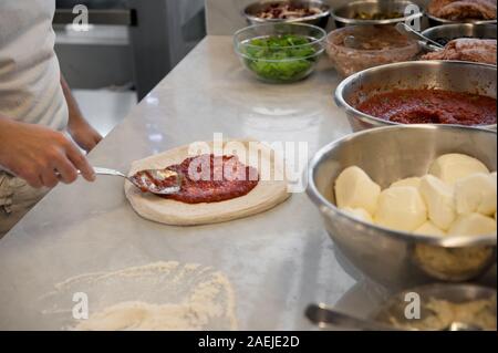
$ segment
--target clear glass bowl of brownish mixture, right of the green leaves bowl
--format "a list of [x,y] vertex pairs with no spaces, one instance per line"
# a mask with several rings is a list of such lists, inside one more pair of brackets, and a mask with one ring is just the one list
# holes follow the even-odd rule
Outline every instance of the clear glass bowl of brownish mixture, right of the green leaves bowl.
[[417,41],[407,40],[388,25],[345,27],[332,31],[326,38],[326,53],[343,76],[374,66],[411,61],[419,51]]

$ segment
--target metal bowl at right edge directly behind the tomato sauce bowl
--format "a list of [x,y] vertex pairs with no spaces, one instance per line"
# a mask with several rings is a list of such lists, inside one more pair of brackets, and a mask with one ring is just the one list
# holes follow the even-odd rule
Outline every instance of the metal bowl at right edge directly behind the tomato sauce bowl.
[[[449,42],[458,38],[496,39],[495,24],[454,23],[429,28],[422,32],[428,39],[437,41],[444,39]],[[446,43],[447,43],[446,42]],[[440,43],[446,45],[446,43]]]

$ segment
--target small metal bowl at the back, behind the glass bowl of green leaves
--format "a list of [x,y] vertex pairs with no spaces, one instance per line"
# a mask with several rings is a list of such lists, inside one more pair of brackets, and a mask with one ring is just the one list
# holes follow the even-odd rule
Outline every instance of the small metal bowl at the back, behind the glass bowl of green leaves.
[[[293,4],[297,7],[317,7],[322,10],[322,13],[315,15],[303,17],[299,19],[291,20],[279,20],[279,19],[261,19],[257,14],[270,4]],[[312,24],[325,29],[329,24],[330,19],[330,7],[320,0],[263,0],[249,4],[243,10],[243,17],[249,24],[261,24],[261,23],[281,23],[281,22],[300,22],[305,24]]]

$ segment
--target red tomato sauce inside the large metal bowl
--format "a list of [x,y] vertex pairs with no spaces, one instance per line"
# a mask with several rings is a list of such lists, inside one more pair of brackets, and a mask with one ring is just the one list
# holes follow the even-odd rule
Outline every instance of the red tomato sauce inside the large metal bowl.
[[380,93],[357,108],[369,115],[401,124],[496,124],[496,100],[443,90],[396,90]]

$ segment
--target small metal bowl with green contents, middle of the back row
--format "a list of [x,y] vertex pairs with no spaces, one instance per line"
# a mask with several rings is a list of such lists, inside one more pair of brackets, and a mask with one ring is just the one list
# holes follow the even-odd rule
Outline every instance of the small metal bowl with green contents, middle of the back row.
[[356,25],[356,24],[396,24],[398,22],[408,22],[415,19],[419,19],[424,15],[421,11],[419,13],[414,13],[411,15],[404,15],[398,19],[386,19],[386,20],[360,20],[355,19],[355,14],[360,12],[365,13],[382,13],[382,12],[400,12],[405,13],[405,9],[408,6],[416,6],[412,1],[406,0],[366,0],[366,1],[353,1],[343,7],[340,7],[332,11],[332,18],[335,21],[338,28],[345,25]]

